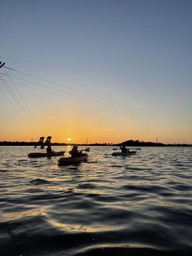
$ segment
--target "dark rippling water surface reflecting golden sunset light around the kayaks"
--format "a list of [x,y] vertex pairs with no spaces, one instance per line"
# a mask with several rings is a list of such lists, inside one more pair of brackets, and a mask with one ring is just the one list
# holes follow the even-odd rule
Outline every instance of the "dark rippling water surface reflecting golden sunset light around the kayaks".
[[191,255],[192,148],[92,147],[78,166],[32,151],[0,147],[1,256]]

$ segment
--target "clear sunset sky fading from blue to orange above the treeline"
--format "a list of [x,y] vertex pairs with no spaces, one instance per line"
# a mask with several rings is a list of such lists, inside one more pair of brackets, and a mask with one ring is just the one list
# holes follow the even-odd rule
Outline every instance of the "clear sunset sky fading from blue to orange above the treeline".
[[1,141],[192,143],[190,0],[0,4]]

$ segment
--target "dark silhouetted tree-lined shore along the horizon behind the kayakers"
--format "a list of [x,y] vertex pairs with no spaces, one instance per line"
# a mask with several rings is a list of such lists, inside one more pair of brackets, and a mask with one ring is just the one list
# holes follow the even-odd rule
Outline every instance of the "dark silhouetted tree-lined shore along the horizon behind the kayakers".
[[[0,141],[0,146],[35,146],[37,142],[28,142],[28,141]],[[164,144],[164,143],[155,143],[155,142],[145,142],[139,140],[127,140],[123,141],[126,147],[192,147],[192,144]],[[119,147],[122,143],[90,143],[90,144],[77,144],[79,146],[116,146]],[[51,143],[52,146],[72,146],[74,143]]]

